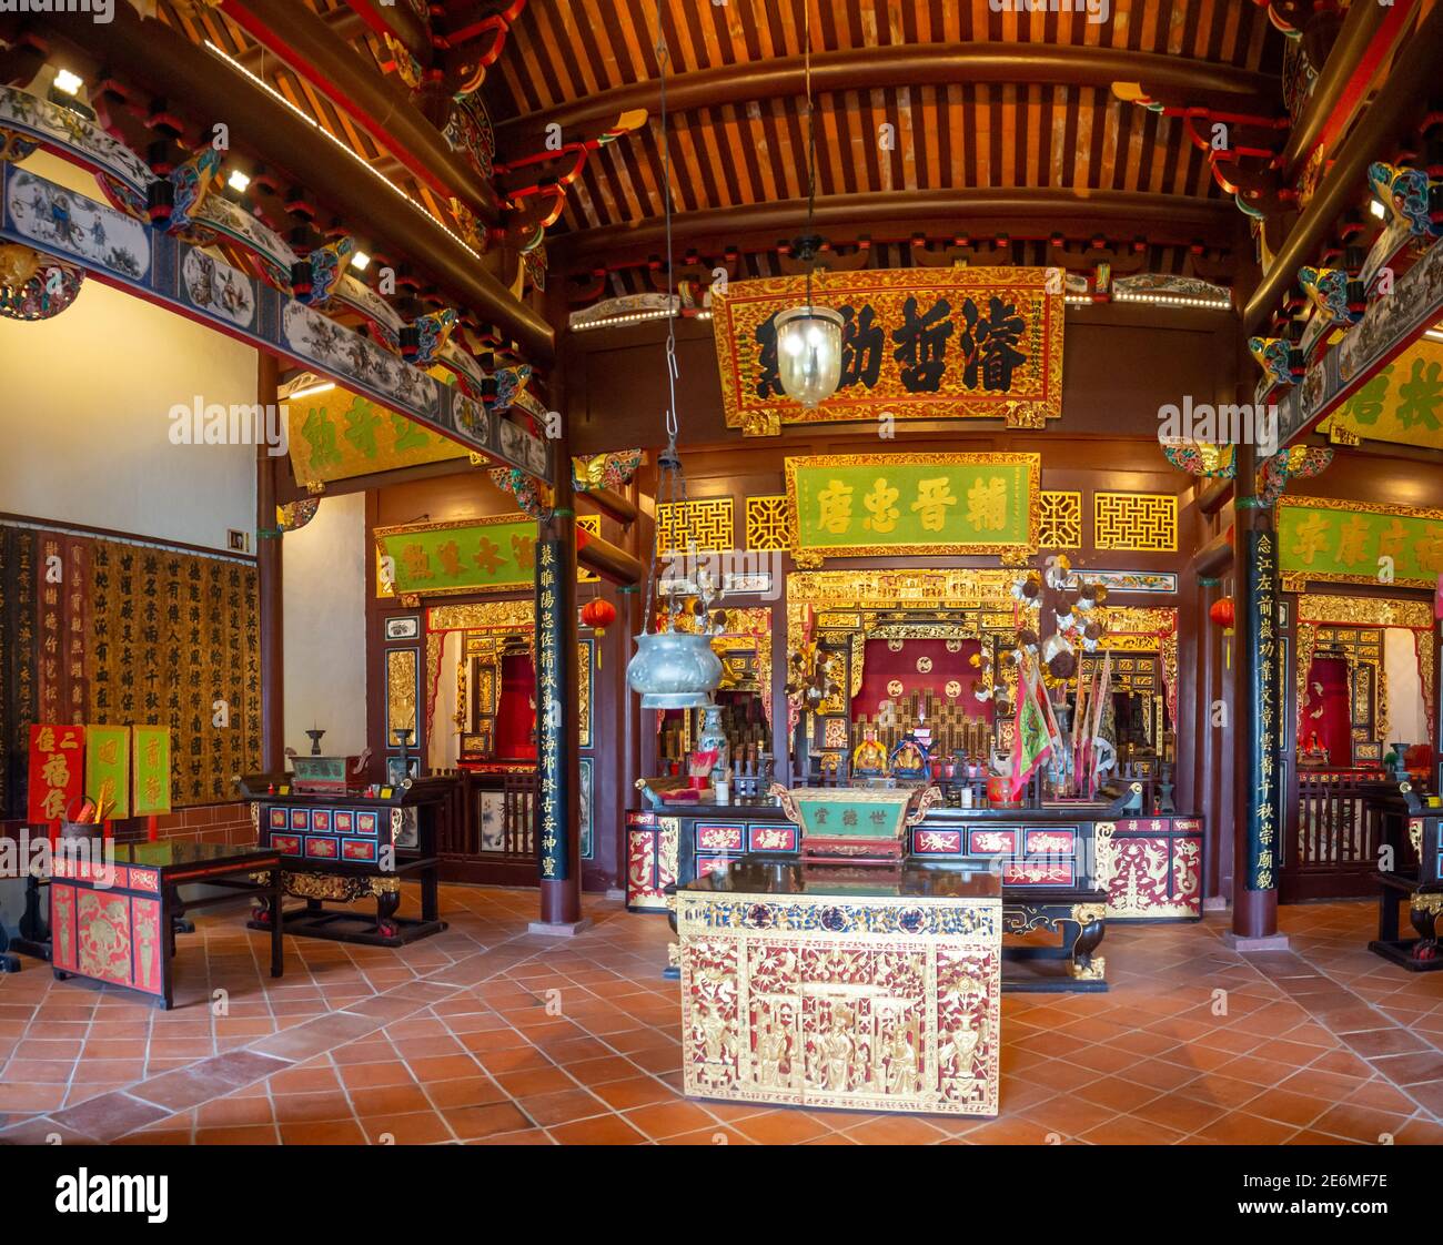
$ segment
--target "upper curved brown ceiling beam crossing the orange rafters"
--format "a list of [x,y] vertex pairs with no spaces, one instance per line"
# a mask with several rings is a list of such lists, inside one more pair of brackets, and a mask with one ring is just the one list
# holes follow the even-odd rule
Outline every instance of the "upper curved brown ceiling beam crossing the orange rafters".
[[[717,65],[677,75],[667,82],[667,108],[685,113],[723,104],[747,104],[802,94],[801,56],[749,65]],[[1281,108],[1280,87],[1267,74],[1186,56],[1091,48],[1074,43],[898,43],[846,48],[812,56],[812,92],[886,87],[947,87],[1014,82],[1111,89],[1114,82],[1141,82],[1159,91],[1183,92],[1198,105],[1231,113],[1271,115]],[[567,131],[645,108],[658,115],[655,81],[633,82],[543,108],[496,124],[496,147],[506,154],[540,150],[547,127]],[[505,159],[504,156],[501,159]]]

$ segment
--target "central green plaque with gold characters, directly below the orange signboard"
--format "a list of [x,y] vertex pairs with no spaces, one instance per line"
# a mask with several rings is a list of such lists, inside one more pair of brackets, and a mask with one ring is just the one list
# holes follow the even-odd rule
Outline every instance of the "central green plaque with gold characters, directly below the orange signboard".
[[1038,551],[1040,454],[824,454],[786,459],[792,554]]

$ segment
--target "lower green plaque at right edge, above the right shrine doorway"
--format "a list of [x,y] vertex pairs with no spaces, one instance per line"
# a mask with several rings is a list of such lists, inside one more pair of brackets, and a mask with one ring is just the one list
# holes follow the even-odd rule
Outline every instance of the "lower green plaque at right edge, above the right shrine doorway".
[[1281,498],[1277,535],[1284,587],[1309,580],[1433,587],[1443,574],[1443,511]]

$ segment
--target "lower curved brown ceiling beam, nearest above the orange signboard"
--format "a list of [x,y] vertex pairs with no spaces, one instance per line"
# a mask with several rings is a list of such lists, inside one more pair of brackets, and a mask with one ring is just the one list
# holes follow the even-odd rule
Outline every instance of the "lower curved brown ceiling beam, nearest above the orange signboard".
[[[899,241],[915,232],[931,237],[1014,239],[1049,238],[1074,226],[1078,235],[1115,231],[1139,234],[1157,245],[1203,245],[1227,250],[1235,234],[1237,208],[1227,199],[1188,199],[1177,195],[1092,190],[1078,195],[1051,186],[973,190],[886,190],[827,195],[817,199],[815,224],[823,232],[854,229],[877,241]],[[671,218],[672,241],[700,251],[771,248],[807,224],[807,201],[785,199],[709,208]],[[854,237],[854,235],[853,235]],[[597,267],[626,267],[665,245],[661,216],[596,229],[561,234],[547,244],[553,270],[589,273]],[[841,242],[841,238],[833,241]],[[847,239],[850,241],[850,238]]]

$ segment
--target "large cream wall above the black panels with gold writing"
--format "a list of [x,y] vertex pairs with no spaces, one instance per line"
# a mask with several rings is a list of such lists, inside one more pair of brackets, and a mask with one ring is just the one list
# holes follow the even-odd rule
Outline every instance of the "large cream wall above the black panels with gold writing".
[[[100,198],[38,153],[25,167]],[[0,511],[225,548],[255,527],[253,446],[170,444],[172,405],[255,401],[255,349],[88,280],[52,320],[0,319]]]

